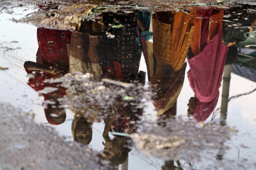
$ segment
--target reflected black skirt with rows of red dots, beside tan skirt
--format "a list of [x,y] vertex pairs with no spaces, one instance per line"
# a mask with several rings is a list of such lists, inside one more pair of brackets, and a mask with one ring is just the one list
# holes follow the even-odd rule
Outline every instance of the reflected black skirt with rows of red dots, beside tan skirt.
[[102,76],[126,83],[137,80],[142,53],[137,30],[145,29],[139,12],[103,12],[101,17],[104,29],[96,50]]

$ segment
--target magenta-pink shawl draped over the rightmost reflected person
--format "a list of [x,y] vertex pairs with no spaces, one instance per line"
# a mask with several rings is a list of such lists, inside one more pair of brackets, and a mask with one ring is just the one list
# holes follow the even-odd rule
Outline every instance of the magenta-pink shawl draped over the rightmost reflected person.
[[209,41],[204,50],[188,60],[189,85],[198,99],[194,115],[204,121],[215,109],[228,47],[222,42],[222,30]]

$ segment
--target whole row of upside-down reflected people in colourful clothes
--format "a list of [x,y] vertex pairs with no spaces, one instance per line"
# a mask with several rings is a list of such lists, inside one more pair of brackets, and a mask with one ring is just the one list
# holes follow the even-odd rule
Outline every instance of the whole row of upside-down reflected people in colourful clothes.
[[[250,45],[245,42],[250,36],[244,35],[255,34],[256,13],[244,9],[246,6],[228,10],[188,6],[179,11],[127,8],[113,12],[92,8],[75,31],[37,29],[36,62],[24,63],[30,75],[28,85],[44,96],[42,107],[49,124],[64,123],[66,109],[72,110],[73,139],[81,144],[91,142],[93,124],[103,121],[105,142],[98,156],[111,161],[111,165],[122,164],[133,146],[129,135],[138,131],[144,114],[143,100],[135,99],[136,91],[129,94],[131,89],[124,87],[125,98],[117,95],[114,102],[103,106],[101,100],[97,103],[86,98],[77,108],[61,103],[62,98],[86,95],[75,82],[70,84],[75,87],[74,93],[61,82],[45,80],[77,72],[91,75],[93,81],[108,80],[110,83],[105,86],[132,84],[144,88],[148,80],[147,89],[151,92],[148,100],[159,119],[175,119],[177,99],[187,79],[195,94],[184,103],[188,107],[187,116],[190,122],[204,122],[216,109],[227,65],[236,68],[246,65],[255,74],[255,60],[247,61],[248,56],[249,59],[256,56],[255,51],[245,55],[240,48]],[[141,57],[146,72],[139,70]],[[109,132],[114,132],[114,138]],[[162,169],[182,169],[179,161],[176,164],[165,161]]]

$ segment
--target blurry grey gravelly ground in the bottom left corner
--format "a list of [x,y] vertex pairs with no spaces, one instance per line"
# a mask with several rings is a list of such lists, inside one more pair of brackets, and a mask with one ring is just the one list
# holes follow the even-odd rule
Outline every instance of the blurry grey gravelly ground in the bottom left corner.
[[108,169],[97,152],[66,142],[22,110],[0,103],[0,169]]

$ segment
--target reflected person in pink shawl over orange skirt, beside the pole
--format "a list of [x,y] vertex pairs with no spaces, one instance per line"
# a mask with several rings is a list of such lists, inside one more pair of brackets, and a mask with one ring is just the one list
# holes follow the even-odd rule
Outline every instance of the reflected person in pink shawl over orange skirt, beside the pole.
[[187,76],[196,98],[190,98],[188,114],[204,121],[214,111],[219,99],[228,47],[222,42],[223,10],[196,10],[195,17]]

